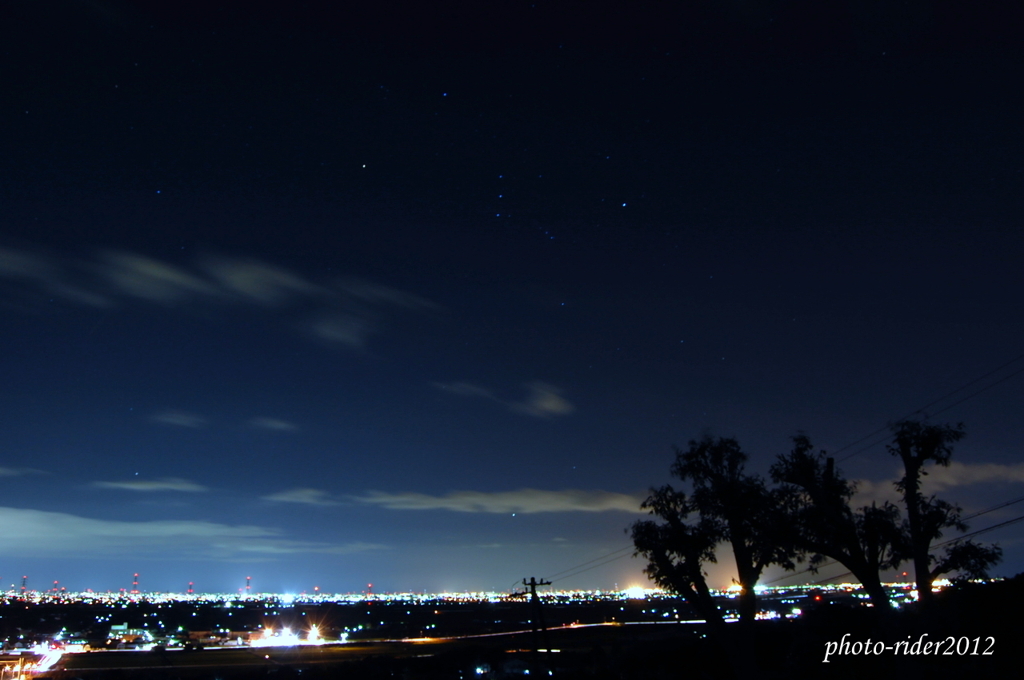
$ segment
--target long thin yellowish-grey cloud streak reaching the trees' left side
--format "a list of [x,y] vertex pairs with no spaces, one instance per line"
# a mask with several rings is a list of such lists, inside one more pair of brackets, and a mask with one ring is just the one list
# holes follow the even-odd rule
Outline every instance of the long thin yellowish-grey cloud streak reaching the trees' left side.
[[356,498],[361,503],[389,510],[452,510],[454,512],[536,513],[536,512],[640,512],[643,498],[603,491],[543,491],[520,488],[513,492],[452,492],[444,496],[368,492]]

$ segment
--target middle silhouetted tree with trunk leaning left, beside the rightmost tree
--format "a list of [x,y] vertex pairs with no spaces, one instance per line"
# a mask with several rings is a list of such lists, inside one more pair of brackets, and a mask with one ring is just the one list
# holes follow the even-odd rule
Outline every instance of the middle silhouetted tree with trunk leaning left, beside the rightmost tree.
[[850,499],[856,484],[843,477],[824,452],[814,453],[807,436],[793,440],[793,451],[779,456],[771,476],[782,484],[797,548],[811,553],[812,569],[827,558],[846,566],[874,606],[888,610],[880,571],[896,568],[907,551],[899,508],[886,502],[854,510]]

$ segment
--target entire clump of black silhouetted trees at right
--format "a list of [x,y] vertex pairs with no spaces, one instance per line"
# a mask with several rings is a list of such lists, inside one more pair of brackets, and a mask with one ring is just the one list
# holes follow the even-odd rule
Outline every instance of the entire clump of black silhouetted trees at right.
[[953,541],[932,554],[932,543],[949,528],[966,530],[959,507],[925,497],[926,465],[948,465],[952,444],[964,436],[962,425],[929,425],[901,421],[892,426],[889,451],[903,462],[896,490],[906,519],[893,503],[860,508],[850,503],[856,484],[836,469],[824,452],[814,452],[805,435],[778,457],[771,477],[778,487],[745,471],[746,454],[732,438],[706,436],[676,449],[672,474],[690,485],[687,495],[671,485],[651,488],[642,509],[662,521],[632,525],[635,555],[647,558],[647,575],[659,586],[682,595],[708,622],[723,626],[722,614],[707,583],[706,566],[717,561],[716,549],[728,543],[736,562],[740,622],[757,614],[755,586],[764,569],[778,564],[793,569],[808,555],[811,567],[826,558],[844,564],[863,585],[872,603],[888,609],[881,573],[912,561],[919,597],[932,599],[932,583],[943,573],[982,578],[1001,557],[998,546],[969,539]]

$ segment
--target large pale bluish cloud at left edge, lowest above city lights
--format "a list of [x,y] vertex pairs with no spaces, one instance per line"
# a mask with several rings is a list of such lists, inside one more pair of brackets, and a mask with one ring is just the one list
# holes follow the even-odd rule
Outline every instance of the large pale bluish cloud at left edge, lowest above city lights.
[[[379,550],[371,543],[294,541],[278,529],[204,520],[117,521],[60,512],[0,508],[0,543],[8,556],[111,557],[175,554],[181,558],[237,559],[240,554],[348,554]],[[248,559],[249,557],[247,557]]]

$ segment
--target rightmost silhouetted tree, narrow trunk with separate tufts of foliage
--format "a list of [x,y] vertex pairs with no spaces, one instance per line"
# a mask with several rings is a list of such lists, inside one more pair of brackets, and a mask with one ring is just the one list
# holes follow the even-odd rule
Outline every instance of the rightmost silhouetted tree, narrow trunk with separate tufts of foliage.
[[933,599],[932,582],[936,578],[953,571],[971,578],[984,577],[987,568],[1001,558],[1002,550],[998,546],[962,540],[954,542],[941,557],[930,552],[932,542],[942,537],[943,529],[967,529],[967,524],[961,519],[959,507],[934,496],[926,498],[921,491],[921,478],[928,474],[925,465],[949,465],[953,444],[965,435],[964,425],[929,425],[904,420],[894,424],[892,432],[893,442],[888,445],[889,453],[903,462],[903,477],[896,482],[896,491],[903,497],[906,506],[908,556],[913,561],[918,597],[929,604]]

